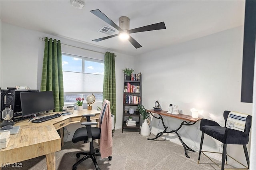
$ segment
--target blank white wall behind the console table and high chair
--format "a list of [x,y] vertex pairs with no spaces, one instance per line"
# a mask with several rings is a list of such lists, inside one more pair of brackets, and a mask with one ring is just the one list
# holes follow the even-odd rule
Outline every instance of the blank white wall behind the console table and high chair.
[[[168,104],[179,105],[178,109],[185,115],[191,115],[190,109],[195,107],[203,110],[200,117],[222,126],[225,110],[252,115],[252,103],[240,102],[242,47],[241,26],[137,57],[135,68],[140,69],[143,77],[143,105],[153,109],[158,100],[163,110],[167,110]],[[182,122],[169,117],[164,117],[164,121],[168,130]],[[155,134],[164,129],[158,119],[152,119],[150,125]],[[198,127],[199,122],[178,131],[185,143],[196,150],[201,138]],[[164,136],[180,143],[174,134]],[[203,149],[213,147],[219,151],[218,144],[205,135]],[[242,146],[228,147],[228,153],[246,164]]]

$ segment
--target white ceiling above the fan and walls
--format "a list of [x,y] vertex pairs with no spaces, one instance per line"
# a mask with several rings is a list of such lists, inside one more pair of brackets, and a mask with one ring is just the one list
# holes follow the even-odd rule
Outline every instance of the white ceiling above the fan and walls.
[[[244,24],[244,0],[86,0],[82,10],[70,0],[1,0],[1,21],[54,36],[90,43],[116,52],[139,55],[186,42]],[[118,37],[98,32],[106,25],[90,10],[101,10],[118,25],[120,16],[130,18],[130,29],[165,22],[165,30],[139,32],[131,36],[142,45],[135,49]]]

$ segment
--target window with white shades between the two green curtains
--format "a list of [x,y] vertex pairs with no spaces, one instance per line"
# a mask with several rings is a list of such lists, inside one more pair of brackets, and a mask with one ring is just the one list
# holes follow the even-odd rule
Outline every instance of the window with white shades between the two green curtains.
[[104,61],[62,53],[62,70],[65,104],[92,93],[96,101],[102,101]]

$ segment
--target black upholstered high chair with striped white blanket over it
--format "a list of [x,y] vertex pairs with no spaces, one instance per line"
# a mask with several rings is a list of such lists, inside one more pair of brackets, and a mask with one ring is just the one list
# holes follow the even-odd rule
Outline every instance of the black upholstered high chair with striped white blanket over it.
[[[218,164],[216,164],[211,158],[209,158],[206,154],[204,154],[207,158],[209,158],[212,162],[214,162],[214,164],[216,164],[222,170],[224,170],[225,160],[226,160],[226,164],[227,164],[227,156],[229,156],[228,154],[226,154],[227,144],[242,144],[243,148],[244,148],[244,154],[245,154],[245,158],[246,158],[248,167],[246,167],[244,164],[238,162],[231,156],[229,156],[229,157],[234,159],[236,162],[238,162],[245,168],[249,169],[250,162],[249,162],[249,156],[248,156],[246,144],[248,144],[248,142],[249,142],[249,133],[250,133],[251,125],[252,125],[252,116],[245,115],[245,114],[236,114],[235,112],[231,112],[231,111],[224,111],[223,117],[225,119],[224,127],[221,127],[215,121],[211,121],[208,119],[201,119],[200,130],[202,131],[202,137],[201,137],[201,144],[200,144],[200,150],[199,150],[199,156],[198,156],[198,164],[199,164],[201,152],[202,152],[202,154],[204,154],[204,152],[210,152],[210,151],[202,151],[204,134],[206,133],[209,136],[212,136],[213,138],[215,138],[223,143],[221,167]],[[236,125],[242,125],[242,126],[239,126],[240,129],[237,130],[236,128],[233,127],[233,123],[234,123],[234,127],[236,127]],[[244,128],[244,130],[243,130],[243,128]],[[211,152],[211,153],[218,153],[218,152]]]

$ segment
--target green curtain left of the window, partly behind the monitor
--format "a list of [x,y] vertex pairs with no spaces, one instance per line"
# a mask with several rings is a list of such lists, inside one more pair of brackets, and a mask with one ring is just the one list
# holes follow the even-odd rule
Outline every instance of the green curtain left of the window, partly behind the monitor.
[[63,73],[60,40],[45,38],[41,91],[53,91],[54,111],[64,106]]

